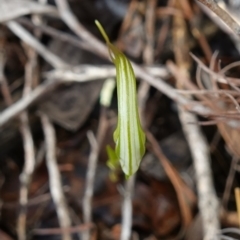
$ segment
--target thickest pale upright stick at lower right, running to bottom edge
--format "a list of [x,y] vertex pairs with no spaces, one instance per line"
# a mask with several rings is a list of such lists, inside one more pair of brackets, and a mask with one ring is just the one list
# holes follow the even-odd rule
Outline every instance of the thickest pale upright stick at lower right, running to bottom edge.
[[[185,77],[184,69],[180,69],[175,78],[180,82]],[[215,239],[220,229],[219,208],[216,197],[208,144],[202,134],[197,117],[187,112],[182,106],[178,105],[179,118],[185,133],[186,140],[190,147],[193,158],[193,165],[196,173],[196,185],[198,192],[198,207],[203,219],[203,232],[205,240]]]

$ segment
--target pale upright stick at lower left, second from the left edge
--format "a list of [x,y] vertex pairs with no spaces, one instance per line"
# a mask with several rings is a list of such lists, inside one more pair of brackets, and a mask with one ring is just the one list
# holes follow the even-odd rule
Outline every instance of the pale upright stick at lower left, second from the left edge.
[[71,227],[71,219],[63,193],[61,174],[56,159],[56,135],[55,130],[47,115],[41,113],[41,122],[46,142],[46,165],[49,174],[49,188],[56,207],[58,221],[63,229],[62,239],[72,240],[71,234],[65,229]]

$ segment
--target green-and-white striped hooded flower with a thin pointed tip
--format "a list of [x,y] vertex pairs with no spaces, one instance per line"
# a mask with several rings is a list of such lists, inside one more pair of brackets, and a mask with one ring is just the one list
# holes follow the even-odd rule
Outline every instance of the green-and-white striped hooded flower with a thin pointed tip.
[[113,134],[115,152],[127,177],[139,168],[145,153],[145,134],[140,124],[137,106],[136,78],[130,61],[113,46],[103,27],[95,21],[102,33],[110,58],[116,67],[118,94],[118,124]]

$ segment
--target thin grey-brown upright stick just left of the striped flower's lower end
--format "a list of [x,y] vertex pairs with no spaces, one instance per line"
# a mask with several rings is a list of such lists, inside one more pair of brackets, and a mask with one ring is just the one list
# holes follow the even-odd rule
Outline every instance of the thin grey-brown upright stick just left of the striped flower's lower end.
[[[94,189],[94,181],[96,175],[97,168],[97,160],[98,160],[98,143],[93,135],[92,131],[87,132],[88,141],[91,145],[91,153],[88,161],[88,169],[87,169],[87,177],[86,177],[86,187],[85,193],[83,197],[83,222],[85,224],[90,224],[92,221],[92,196]],[[83,240],[91,239],[90,230],[87,229],[82,233]]]

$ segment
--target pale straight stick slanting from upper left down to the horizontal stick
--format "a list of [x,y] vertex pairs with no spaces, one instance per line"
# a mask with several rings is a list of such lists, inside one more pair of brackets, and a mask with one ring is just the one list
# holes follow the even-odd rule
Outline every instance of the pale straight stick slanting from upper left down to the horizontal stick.
[[23,42],[27,43],[35,49],[49,64],[55,68],[67,68],[69,65],[61,58],[51,53],[44,45],[42,45],[32,34],[15,21],[6,23],[8,28],[17,35]]

